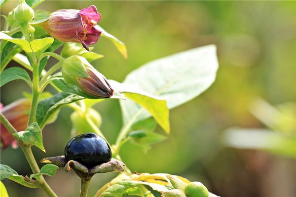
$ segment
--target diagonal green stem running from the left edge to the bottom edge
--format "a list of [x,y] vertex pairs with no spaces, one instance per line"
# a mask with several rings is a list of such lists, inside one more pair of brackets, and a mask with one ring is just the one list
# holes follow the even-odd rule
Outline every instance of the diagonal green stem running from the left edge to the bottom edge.
[[[16,133],[17,131],[15,128],[10,124],[10,122],[3,116],[2,113],[0,113],[0,122],[1,124],[7,129],[7,131],[10,132],[10,134]],[[18,142],[19,146],[21,147],[22,151],[24,152],[24,155],[28,161],[28,164],[30,165],[33,173],[39,173],[40,169],[38,167],[38,164],[34,158],[34,155],[32,153],[32,149],[29,146],[26,146],[22,140],[12,135],[15,140]],[[40,176],[40,182],[39,186],[46,192],[46,194],[49,197],[57,197],[57,195],[52,191],[52,189],[48,186],[46,181],[42,176]]]

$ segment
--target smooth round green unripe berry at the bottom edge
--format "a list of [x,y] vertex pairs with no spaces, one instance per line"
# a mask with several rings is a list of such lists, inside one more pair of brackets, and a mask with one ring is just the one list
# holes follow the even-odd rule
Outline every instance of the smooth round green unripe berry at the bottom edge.
[[191,182],[185,187],[186,197],[209,197],[209,191],[201,182]]

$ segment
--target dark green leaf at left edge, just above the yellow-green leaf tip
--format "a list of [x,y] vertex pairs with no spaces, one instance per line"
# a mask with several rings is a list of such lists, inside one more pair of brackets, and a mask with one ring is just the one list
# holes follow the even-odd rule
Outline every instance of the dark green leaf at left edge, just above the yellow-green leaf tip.
[[19,175],[15,170],[13,170],[11,167],[9,167],[8,165],[3,165],[0,164],[0,180],[3,179],[10,179],[14,182],[17,182],[18,184],[21,184],[23,186],[26,186],[28,188],[37,188],[38,186],[27,182],[24,180],[24,177]]

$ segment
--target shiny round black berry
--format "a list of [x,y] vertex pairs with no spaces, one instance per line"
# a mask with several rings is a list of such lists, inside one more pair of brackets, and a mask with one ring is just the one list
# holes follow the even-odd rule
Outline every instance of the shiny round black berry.
[[74,160],[88,168],[110,162],[112,158],[109,144],[94,133],[83,133],[73,137],[65,147],[67,161]]

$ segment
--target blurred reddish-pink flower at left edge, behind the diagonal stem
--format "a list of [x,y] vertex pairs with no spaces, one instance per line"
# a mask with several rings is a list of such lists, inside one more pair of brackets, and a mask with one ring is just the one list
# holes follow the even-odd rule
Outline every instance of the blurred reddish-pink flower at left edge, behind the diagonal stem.
[[[19,99],[5,107],[1,104],[0,110],[16,131],[24,131],[27,128],[30,107],[31,102],[29,99]],[[11,145],[12,148],[18,147],[13,136],[2,124],[0,125],[0,139],[3,149],[7,148],[9,145]]]

